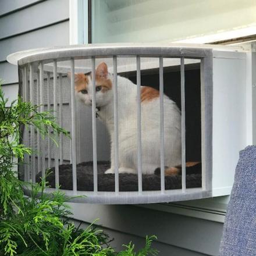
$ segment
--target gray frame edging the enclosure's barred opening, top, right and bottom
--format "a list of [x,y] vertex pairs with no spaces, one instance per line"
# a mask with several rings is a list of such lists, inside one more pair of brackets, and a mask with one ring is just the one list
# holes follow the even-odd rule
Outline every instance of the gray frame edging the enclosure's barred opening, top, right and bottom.
[[[202,168],[205,177],[202,177],[202,189],[187,189],[175,191],[143,191],[112,193],[90,193],[88,191],[77,191],[77,195],[88,195],[83,198],[73,198],[74,202],[88,202],[97,204],[144,204],[150,202],[170,202],[193,200],[211,197],[212,195],[212,49],[206,45],[197,47],[178,46],[148,46],[148,45],[91,45],[35,49],[32,51],[18,52],[8,56],[10,63],[17,61],[19,67],[29,63],[52,61],[67,61],[70,59],[87,58],[112,58],[113,56],[143,56],[143,57],[165,57],[186,58],[201,60],[201,106],[202,106]],[[22,91],[22,88],[20,88]],[[51,193],[54,189],[49,189]],[[73,191],[63,190],[67,195]],[[29,190],[25,190],[29,194]]]

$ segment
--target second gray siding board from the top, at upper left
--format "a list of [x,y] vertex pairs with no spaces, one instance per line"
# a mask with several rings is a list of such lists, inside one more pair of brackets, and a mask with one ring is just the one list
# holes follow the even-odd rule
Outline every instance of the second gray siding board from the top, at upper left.
[[40,2],[30,8],[0,17],[0,40],[69,19],[69,0]]

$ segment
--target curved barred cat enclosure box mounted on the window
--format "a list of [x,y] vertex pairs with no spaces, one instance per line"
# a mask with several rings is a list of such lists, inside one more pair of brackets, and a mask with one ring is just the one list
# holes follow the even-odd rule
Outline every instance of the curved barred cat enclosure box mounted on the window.
[[[215,108],[212,102],[214,81],[218,88],[213,70],[216,55],[223,53],[228,56],[230,52],[232,51],[214,51],[212,47],[206,45],[195,47],[193,45],[184,47],[92,45],[39,49],[10,55],[8,57],[10,62],[18,61],[20,94],[24,100],[40,105],[40,111],[53,109],[59,124],[70,132],[71,137],[71,140],[63,136],[56,138],[59,142],[57,148],[49,140],[42,140],[33,127],[25,129],[24,143],[31,145],[38,154],[25,159],[29,164],[19,168],[20,177],[35,182],[40,176],[45,175],[45,169],[52,168],[53,174],[48,177],[52,186],[48,189],[49,193],[54,190],[55,185],[61,186],[67,195],[86,195],[73,199],[80,202],[138,204],[192,200],[215,195],[213,189],[216,187],[216,191],[219,191],[220,186],[214,183],[212,149],[215,152],[220,148],[217,149],[219,145],[215,145],[216,143],[212,144],[212,136],[216,135],[216,133],[212,134],[214,131],[212,110]],[[239,57],[237,59],[243,59],[241,53],[237,53],[237,56]],[[222,58],[220,60],[222,61]],[[216,63],[216,67],[221,61]],[[117,93],[120,80],[118,74],[134,81],[136,87],[134,118],[137,129],[137,172],[133,175],[119,173],[119,168],[116,167],[119,166],[118,154],[113,158],[114,173],[110,175],[103,173],[109,168],[110,145],[105,126],[98,122],[97,102],[95,102],[97,93],[95,69],[102,62],[106,63],[109,73],[113,74],[112,147],[119,154],[123,148],[119,148],[118,113],[125,102],[118,101],[120,97]],[[84,106],[78,101],[74,91],[75,73],[88,72],[91,72],[91,80],[95,88],[92,91],[92,107]],[[234,74],[236,78],[240,75],[239,72]],[[231,83],[233,81],[227,82],[226,86],[230,87]],[[151,175],[145,175],[141,170],[141,157],[144,154],[141,147],[141,136],[143,136],[141,86],[151,86],[159,90],[159,115],[154,115],[152,118],[159,119],[160,161],[158,172]],[[242,90],[242,87],[239,86],[238,90]],[[163,93],[172,98],[181,111],[182,161],[179,175],[165,176],[164,151],[168,141],[165,140],[166,134],[163,129],[165,122]],[[229,101],[233,102],[238,95],[232,94],[229,98]],[[228,103],[226,102],[227,105]],[[243,102],[240,101],[238,104],[243,105]],[[219,115],[222,116],[222,113]],[[218,140],[225,137],[225,133],[226,131],[219,132]],[[231,160],[230,166],[233,166],[233,152],[226,154],[227,161]],[[193,168],[190,173],[191,168],[186,164],[191,161],[201,162],[195,173]],[[223,169],[223,165],[219,168]],[[227,175],[229,173],[233,173],[233,170],[227,170]],[[216,175],[218,175],[217,169]],[[227,184],[230,183],[230,179]],[[227,192],[221,192],[221,194],[225,193]]]

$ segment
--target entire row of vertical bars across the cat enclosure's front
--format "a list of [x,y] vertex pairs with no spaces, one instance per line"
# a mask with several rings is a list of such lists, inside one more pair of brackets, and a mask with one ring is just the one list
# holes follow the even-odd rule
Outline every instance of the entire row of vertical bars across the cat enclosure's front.
[[[113,150],[114,150],[114,171],[115,171],[115,193],[119,193],[119,143],[118,143],[118,70],[117,70],[117,56],[113,56],[113,114],[114,114],[114,133],[113,133]],[[141,194],[143,191],[142,183],[142,144],[141,144],[141,59],[140,56],[136,56],[136,70],[137,70],[137,173],[138,173],[138,193]],[[92,67],[92,82],[93,82],[93,97],[92,97],[92,126],[93,126],[93,174],[94,174],[94,192],[98,191],[98,170],[97,170],[97,127],[96,127],[96,77],[95,77],[95,57],[91,58]],[[77,191],[77,172],[76,172],[76,162],[77,162],[77,150],[76,150],[76,99],[74,92],[74,59],[70,59],[70,108],[71,108],[71,162],[72,162],[72,175],[73,175],[73,191]],[[37,97],[35,102],[34,98],[34,71],[33,65],[29,65],[29,81],[28,85],[28,69],[27,66],[23,68],[23,98],[25,101],[29,100],[32,104],[37,103],[40,105],[40,112],[45,110],[44,105],[44,67],[43,63],[39,63],[39,72],[37,72]],[[59,74],[59,87],[58,87],[58,72],[57,72],[57,62],[53,62],[53,102],[54,102],[54,116],[59,118],[59,125],[63,125],[63,90],[62,90],[62,74]],[[47,72],[47,110],[51,110],[51,76]],[[161,193],[165,193],[165,130],[164,130],[164,94],[163,94],[163,57],[159,56],[159,118],[160,118],[160,169],[161,169]],[[58,89],[59,88],[59,89]],[[29,90],[29,96],[28,95]],[[59,91],[58,91],[59,90]],[[182,112],[182,191],[186,192],[186,118],[185,118],[185,71],[184,71],[184,58],[180,58],[180,90],[181,90],[181,112]],[[58,95],[59,95],[59,115],[58,111]],[[51,131],[48,131],[48,135],[51,135]],[[35,131],[34,127],[31,126],[30,129],[30,145],[34,147]],[[58,141],[58,138],[55,137]],[[24,131],[24,141],[29,142],[29,131],[25,129]],[[56,148],[54,161],[55,161],[55,183],[59,186],[59,164],[63,163],[63,135],[59,137],[59,149]],[[40,136],[37,130],[37,148],[38,148],[38,172],[42,172],[42,177],[45,176],[45,140]],[[48,151],[48,168],[51,167],[51,141],[48,138],[47,151]],[[25,159],[25,163],[29,162],[29,159]],[[26,181],[30,180],[30,170],[31,179],[35,182],[35,154],[31,155],[31,168],[28,168],[27,163],[24,166],[24,179]],[[205,173],[202,173],[202,184],[205,189]]]

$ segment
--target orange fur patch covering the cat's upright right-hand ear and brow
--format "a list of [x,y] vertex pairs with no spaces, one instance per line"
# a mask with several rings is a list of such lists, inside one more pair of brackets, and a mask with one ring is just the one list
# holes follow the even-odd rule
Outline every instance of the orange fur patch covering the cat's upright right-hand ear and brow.
[[102,93],[105,91],[111,90],[112,88],[112,81],[108,78],[108,66],[105,62],[101,62],[95,73],[95,80],[97,86],[102,86]]

